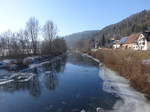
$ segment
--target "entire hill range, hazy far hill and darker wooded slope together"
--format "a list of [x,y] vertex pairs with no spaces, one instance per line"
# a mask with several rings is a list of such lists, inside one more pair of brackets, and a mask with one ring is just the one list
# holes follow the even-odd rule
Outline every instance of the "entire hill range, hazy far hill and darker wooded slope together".
[[[127,17],[126,19],[99,30],[99,31],[85,31],[80,33],[74,33],[65,37],[69,47],[74,47],[77,42],[80,42],[82,49],[87,48],[88,44],[97,41],[100,45],[102,44],[103,38],[105,38],[107,45],[109,44],[110,38],[120,39],[121,37],[128,36],[132,33],[138,33],[144,31],[150,26],[150,10],[144,10],[134,15]],[[85,44],[85,41],[88,44]],[[93,42],[94,42],[93,41]],[[84,43],[84,46],[82,45]],[[82,45],[82,46],[81,46]],[[76,46],[77,47],[77,46]],[[90,45],[88,45],[90,47]]]

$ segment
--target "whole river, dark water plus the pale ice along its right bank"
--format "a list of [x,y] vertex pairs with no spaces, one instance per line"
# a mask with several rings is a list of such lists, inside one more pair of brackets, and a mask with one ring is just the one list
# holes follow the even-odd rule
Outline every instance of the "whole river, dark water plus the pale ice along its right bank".
[[34,78],[0,85],[0,112],[150,112],[143,94],[86,55],[69,53],[26,72]]

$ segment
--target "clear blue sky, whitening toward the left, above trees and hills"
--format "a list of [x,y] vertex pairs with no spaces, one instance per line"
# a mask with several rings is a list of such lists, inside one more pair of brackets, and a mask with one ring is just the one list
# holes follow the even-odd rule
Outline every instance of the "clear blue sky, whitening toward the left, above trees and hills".
[[18,31],[30,17],[52,20],[59,35],[101,29],[144,9],[150,0],[0,0],[0,32]]

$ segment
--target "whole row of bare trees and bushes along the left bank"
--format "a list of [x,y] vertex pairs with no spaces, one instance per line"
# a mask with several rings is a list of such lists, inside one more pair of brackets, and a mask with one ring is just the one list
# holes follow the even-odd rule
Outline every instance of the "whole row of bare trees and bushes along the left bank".
[[66,42],[57,35],[56,25],[48,20],[42,27],[30,18],[23,30],[0,34],[0,58],[23,59],[29,56],[58,56],[67,51]]

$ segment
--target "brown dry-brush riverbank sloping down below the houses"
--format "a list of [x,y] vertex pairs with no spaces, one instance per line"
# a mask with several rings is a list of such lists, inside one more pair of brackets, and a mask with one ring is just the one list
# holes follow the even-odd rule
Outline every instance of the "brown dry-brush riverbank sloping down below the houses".
[[131,86],[150,96],[150,59],[148,51],[97,50],[88,52],[105,66],[129,80]]

